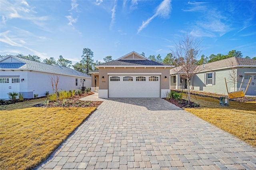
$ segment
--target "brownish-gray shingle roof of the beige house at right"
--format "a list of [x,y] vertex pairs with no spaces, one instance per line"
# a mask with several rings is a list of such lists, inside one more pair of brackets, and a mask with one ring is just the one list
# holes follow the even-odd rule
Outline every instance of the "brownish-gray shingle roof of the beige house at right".
[[[204,72],[204,71],[211,71],[211,70],[215,70],[215,69],[224,69],[227,67],[246,67],[246,66],[252,66],[252,67],[256,67],[256,59],[248,59],[248,58],[241,58],[241,57],[230,57],[230,58],[226,58],[226,59],[222,59],[219,61],[214,61],[211,63],[207,63],[204,65],[198,65],[198,67],[202,68],[199,69],[201,71],[199,72]],[[204,69],[203,69],[204,68]],[[178,68],[172,68],[170,69],[170,73],[176,73],[178,70]]]

